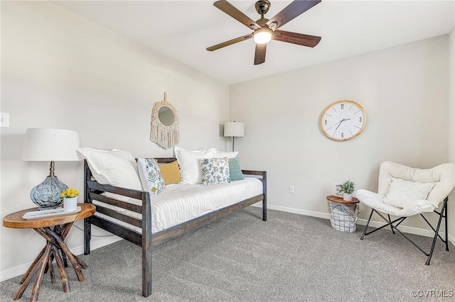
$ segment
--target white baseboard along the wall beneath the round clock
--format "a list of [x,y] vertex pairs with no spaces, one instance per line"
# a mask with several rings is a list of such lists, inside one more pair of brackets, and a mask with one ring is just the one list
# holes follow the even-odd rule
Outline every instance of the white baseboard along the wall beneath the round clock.
[[[253,206],[257,207],[262,207],[262,203],[255,203]],[[288,213],[294,213],[294,214],[300,214],[300,215],[305,215],[305,216],[313,216],[313,217],[318,217],[318,218],[324,218],[324,219],[330,219],[330,214],[328,213],[321,213],[321,212],[314,212],[314,211],[306,211],[306,210],[300,210],[298,208],[287,208],[285,206],[274,206],[271,204],[267,204],[267,208],[271,210],[277,210],[277,211],[283,211],[283,212],[288,212]],[[366,225],[367,220],[365,219],[359,219],[357,222],[359,225]],[[373,228],[378,228],[382,225],[385,225],[385,223],[380,222],[380,221],[370,221],[370,226]],[[414,234],[414,235],[421,235],[421,236],[426,236],[426,237],[433,237],[434,232],[433,230],[425,230],[423,228],[413,228],[405,225],[400,225],[398,227],[403,233],[409,233],[409,234]],[[439,232],[439,235],[444,238],[445,233],[444,232]],[[449,234],[449,242],[452,243],[452,245],[455,245],[455,237],[451,234]]]

